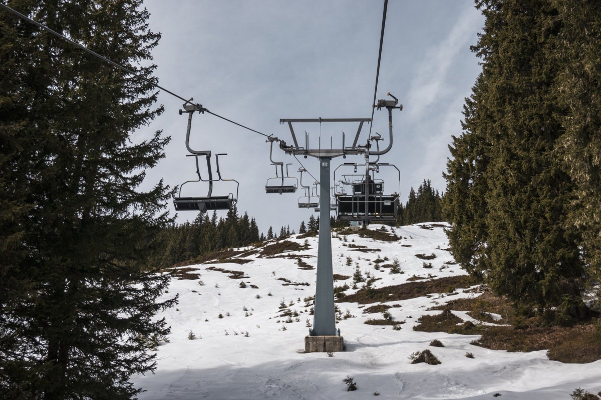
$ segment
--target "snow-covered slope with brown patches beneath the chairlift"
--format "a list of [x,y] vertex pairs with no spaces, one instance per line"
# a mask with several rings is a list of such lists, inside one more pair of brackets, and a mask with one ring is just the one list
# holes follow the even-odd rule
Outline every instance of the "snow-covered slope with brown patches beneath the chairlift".
[[[448,241],[442,226],[429,223],[395,228],[395,234],[402,237],[395,242],[356,234],[335,236],[334,273],[352,276],[359,263],[362,272],[381,278],[374,282],[376,288],[401,284],[413,275],[461,275],[465,272],[451,264],[453,257],[445,250]],[[305,239],[293,236],[288,240],[304,247]],[[546,351],[493,351],[469,344],[478,336],[412,330],[420,315],[439,312],[426,311],[434,302],[475,295],[462,290],[389,303],[400,305],[389,309],[394,320],[406,321],[400,330],[364,324],[367,318],[381,318],[380,314],[362,314],[370,305],[337,303],[343,313],[348,309],[355,315],[337,323],[346,351],[332,357],[326,353],[298,353],[308,334],[307,318],[313,323],[304,298],[314,295],[316,270],[299,268],[296,256],[301,255],[303,261],[315,267],[317,237],[306,240],[308,249],[284,252],[275,258],[260,257],[260,252],[240,254],[235,258],[250,261],[191,266],[198,268],[189,272],[200,273],[198,279],[173,279],[165,296],[178,293],[180,303],[177,309],[163,314],[172,333],[169,342],[158,347],[156,373],[133,379],[136,386],[147,390],[139,398],[365,399],[377,392],[380,399],[490,399],[500,393],[501,399],[549,400],[568,399],[576,387],[594,393],[601,390],[601,361],[563,364],[550,361]],[[379,251],[357,251],[349,245]],[[425,262],[432,263],[433,268],[424,269],[424,260],[415,254],[432,253],[436,258]],[[281,257],[287,254],[296,256]],[[350,266],[347,257],[352,259]],[[386,263],[397,257],[404,273],[391,275],[388,268],[375,270],[373,261],[384,257],[388,257]],[[216,269],[207,269],[212,267]],[[217,269],[242,271],[245,277],[232,279],[228,277],[231,273]],[[240,287],[241,281],[246,288]],[[349,278],[335,284],[347,282],[352,286],[352,281]],[[294,285],[305,282],[309,285]],[[282,300],[287,306],[293,303],[289,309],[299,315],[292,317],[291,323],[279,316]],[[465,313],[457,315],[469,319]],[[191,331],[197,339],[188,339]],[[429,347],[433,339],[441,340],[445,347]],[[410,354],[426,348],[442,363],[410,363]],[[466,357],[466,352],[475,358]],[[347,375],[355,378],[355,392],[346,391],[342,380]]]

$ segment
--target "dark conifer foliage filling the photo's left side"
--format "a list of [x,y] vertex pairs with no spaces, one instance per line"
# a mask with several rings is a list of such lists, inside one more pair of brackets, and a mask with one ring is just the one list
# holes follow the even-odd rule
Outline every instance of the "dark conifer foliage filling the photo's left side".
[[[139,0],[10,1],[153,79]],[[10,399],[139,393],[169,275],[144,272],[171,221],[163,182],[138,189],[169,138],[145,133],[154,88],[0,11],[0,392]],[[142,67],[141,65],[146,65]]]

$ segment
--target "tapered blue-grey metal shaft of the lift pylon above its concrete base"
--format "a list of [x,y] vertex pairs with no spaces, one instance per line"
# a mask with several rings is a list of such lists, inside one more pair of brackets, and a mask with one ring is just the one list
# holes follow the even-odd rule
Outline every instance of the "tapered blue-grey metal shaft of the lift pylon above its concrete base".
[[319,246],[317,248],[317,285],[311,336],[337,335],[332,278],[332,237],[330,232],[330,163],[320,157]]

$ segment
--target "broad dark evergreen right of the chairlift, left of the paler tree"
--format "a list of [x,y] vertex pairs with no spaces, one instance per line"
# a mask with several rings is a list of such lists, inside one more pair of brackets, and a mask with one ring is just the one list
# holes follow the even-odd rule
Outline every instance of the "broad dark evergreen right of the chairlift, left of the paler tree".
[[473,47],[483,72],[448,163],[451,247],[497,293],[535,305],[555,322],[581,318],[584,263],[568,219],[575,185],[557,157],[565,110],[553,56],[562,19],[549,0],[477,7],[486,17]]

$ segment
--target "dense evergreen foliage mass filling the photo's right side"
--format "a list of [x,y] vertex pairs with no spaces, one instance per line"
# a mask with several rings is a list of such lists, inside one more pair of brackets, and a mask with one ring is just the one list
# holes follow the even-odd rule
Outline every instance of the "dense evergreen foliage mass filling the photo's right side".
[[[551,323],[570,323],[587,316],[581,293],[599,272],[598,221],[584,206],[600,198],[599,161],[582,154],[599,154],[591,136],[600,121],[591,95],[599,47],[590,40],[598,44],[600,34],[580,17],[598,25],[601,9],[552,0],[477,7],[486,22],[472,50],[483,71],[466,99],[463,134],[450,146],[450,245],[460,266],[496,293]],[[585,72],[576,67],[582,46],[592,68]]]

